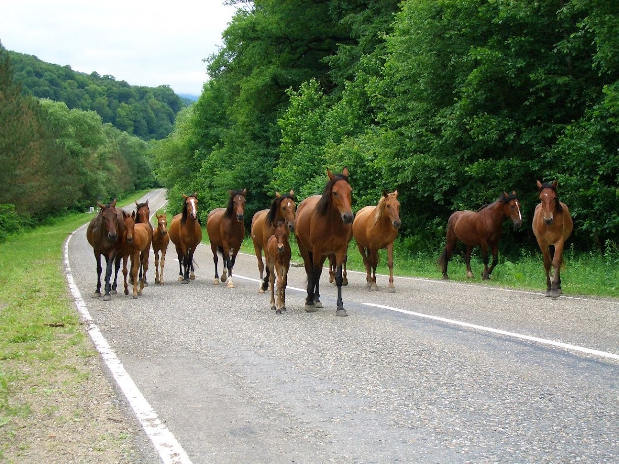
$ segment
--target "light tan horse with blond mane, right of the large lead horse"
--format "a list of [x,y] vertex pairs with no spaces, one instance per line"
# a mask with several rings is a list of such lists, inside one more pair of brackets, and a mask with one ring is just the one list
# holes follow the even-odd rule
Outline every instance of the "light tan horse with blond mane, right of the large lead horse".
[[378,250],[387,249],[387,265],[389,266],[389,289],[393,285],[393,243],[397,237],[400,222],[400,202],[397,200],[397,190],[392,193],[383,191],[383,196],[376,206],[361,208],[352,223],[352,234],[357,242],[357,248],[363,258],[367,286],[378,290],[376,285],[376,266],[378,266]]

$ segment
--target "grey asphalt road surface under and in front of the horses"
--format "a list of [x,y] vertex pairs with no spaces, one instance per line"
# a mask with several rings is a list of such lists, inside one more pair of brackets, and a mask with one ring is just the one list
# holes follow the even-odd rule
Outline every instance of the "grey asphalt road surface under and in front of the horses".
[[[163,193],[149,197],[154,212]],[[336,317],[328,273],[324,309],[306,313],[293,267],[278,316],[255,256],[237,257],[227,289],[210,246],[188,285],[175,255],[165,286],[151,254],[143,296],[102,301],[85,228],[69,243],[90,314],[191,462],[619,462],[619,300],[397,276],[389,293],[387,277],[371,291],[349,272]]]

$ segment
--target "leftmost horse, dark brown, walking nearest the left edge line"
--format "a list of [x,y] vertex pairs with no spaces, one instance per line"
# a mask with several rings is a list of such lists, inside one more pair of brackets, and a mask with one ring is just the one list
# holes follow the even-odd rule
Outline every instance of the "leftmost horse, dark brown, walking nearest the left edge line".
[[[105,294],[103,300],[111,299],[110,278],[115,264],[116,254],[121,249],[124,234],[123,210],[116,208],[116,199],[113,202],[103,205],[97,202],[101,208],[97,216],[89,223],[86,230],[86,238],[95,252],[97,260],[97,290],[94,296],[101,296],[101,255],[105,256]],[[111,293],[116,293],[113,290]]]

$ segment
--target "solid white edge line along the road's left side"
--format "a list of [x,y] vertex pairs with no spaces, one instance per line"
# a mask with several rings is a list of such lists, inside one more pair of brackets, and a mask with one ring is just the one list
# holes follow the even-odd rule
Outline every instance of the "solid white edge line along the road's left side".
[[137,388],[131,376],[129,376],[128,372],[124,369],[123,363],[116,357],[116,354],[105,340],[105,337],[103,337],[94,319],[90,316],[84,299],[82,299],[82,295],[77,288],[71,272],[71,266],[69,265],[69,241],[71,241],[71,237],[77,231],[85,226],[86,224],[69,234],[69,237],[64,243],[64,268],[69,288],[75,299],[77,311],[79,311],[85,322],[88,323],[87,330],[92,342],[95,344],[97,351],[101,354],[106,366],[110,369],[116,383],[120,389],[123,390],[124,396],[127,398],[134,413],[136,413],[137,419],[142,424],[142,427],[144,427],[144,431],[150,438],[150,441],[159,453],[162,461],[165,464],[191,464],[191,460],[183,447],[176,440],[172,432],[168,430],[168,427],[158,418],[157,413],[155,413],[152,406],[150,406],[149,402],[144,398],[144,395],[142,395]]

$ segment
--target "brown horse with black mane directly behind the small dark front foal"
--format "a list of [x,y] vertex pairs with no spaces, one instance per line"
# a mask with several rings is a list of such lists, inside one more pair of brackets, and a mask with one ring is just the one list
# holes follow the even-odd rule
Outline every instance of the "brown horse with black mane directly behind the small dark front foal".
[[254,251],[256,252],[256,258],[258,258],[258,270],[260,272],[260,280],[258,293],[264,293],[267,290],[269,284],[269,267],[267,267],[266,277],[262,278],[264,272],[264,264],[262,264],[262,250],[264,249],[264,258],[266,259],[266,245],[269,238],[275,233],[275,225],[279,221],[285,221],[290,232],[295,231],[295,210],[297,205],[293,196],[295,191],[291,190],[290,193],[280,195],[279,192],[275,192],[275,198],[271,203],[271,208],[266,210],[260,210],[251,219],[251,240],[254,243]]

